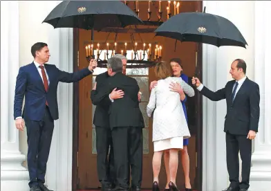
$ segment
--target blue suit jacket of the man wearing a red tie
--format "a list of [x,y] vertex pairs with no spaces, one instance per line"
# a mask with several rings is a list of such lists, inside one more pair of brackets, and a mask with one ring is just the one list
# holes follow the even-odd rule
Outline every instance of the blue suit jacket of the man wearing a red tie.
[[[27,117],[30,120],[41,120],[44,118],[46,100],[48,102],[50,114],[54,120],[58,119],[57,105],[57,86],[58,82],[77,82],[91,71],[82,69],[75,73],[60,71],[53,64],[44,64],[48,80],[50,82],[48,91],[45,91],[44,83],[37,67],[32,62],[26,66],[21,66],[17,75],[14,100],[14,118],[19,116]],[[24,113],[21,113],[21,107],[25,97]]]

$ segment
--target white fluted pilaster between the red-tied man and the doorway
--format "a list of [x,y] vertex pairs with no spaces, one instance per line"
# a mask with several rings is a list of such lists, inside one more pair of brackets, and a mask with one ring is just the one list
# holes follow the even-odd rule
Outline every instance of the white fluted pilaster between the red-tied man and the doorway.
[[[73,72],[73,29],[50,30],[50,63],[60,70]],[[56,191],[72,189],[73,157],[73,84],[59,83],[57,100],[59,120],[55,121],[52,146],[46,172],[46,183]]]

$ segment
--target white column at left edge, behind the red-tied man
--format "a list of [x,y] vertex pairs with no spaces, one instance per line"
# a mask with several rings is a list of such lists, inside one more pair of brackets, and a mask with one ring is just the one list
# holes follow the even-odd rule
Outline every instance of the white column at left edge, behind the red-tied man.
[[19,71],[19,3],[1,2],[1,190],[25,191],[28,171],[21,163],[19,131],[13,120],[15,82]]

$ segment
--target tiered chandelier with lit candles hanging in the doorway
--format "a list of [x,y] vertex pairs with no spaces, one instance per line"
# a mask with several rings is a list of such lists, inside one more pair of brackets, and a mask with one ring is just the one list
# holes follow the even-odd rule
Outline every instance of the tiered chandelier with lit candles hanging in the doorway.
[[[146,2],[146,1],[145,1]],[[163,23],[162,19],[162,3],[167,3],[165,11],[167,11],[167,19],[171,15],[179,14],[180,3],[176,1],[147,1],[147,10],[141,11],[139,9],[140,1],[123,1],[128,6],[129,3],[133,3],[133,10],[138,17],[145,12],[147,14],[147,20],[143,21],[143,26],[147,28],[139,28],[138,26],[129,26],[129,28],[103,28],[101,32],[115,33],[115,41],[109,42],[106,38],[105,42],[94,42],[94,33],[91,33],[91,43],[85,44],[86,48],[86,60],[89,62],[91,59],[97,60],[97,66],[106,68],[107,60],[115,54],[121,54],[127,57],[127,68],[147,68],[155,66],[157,62],[162,59],[162,46],[158,42],[144,42],[134,40],[133,34],[140,35],[142,33],[153,33],[158,26]],[[172,12],[171,12],[172,11]],[[156,13],[157,17],[154,17],[152,13]],[[131,33],[131,42],[117,41],[119,33]],[[132,47],[132,48],[131,48]]]

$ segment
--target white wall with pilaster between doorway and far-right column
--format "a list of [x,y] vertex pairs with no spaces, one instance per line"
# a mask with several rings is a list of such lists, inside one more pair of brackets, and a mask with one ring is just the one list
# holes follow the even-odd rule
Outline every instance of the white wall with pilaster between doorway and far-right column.
[[[203,84],[216,91],[232,80],[230,64],[236,58],[247,62],[247,76],[253,80],[254,69],[254,1],[203,1],[206,12],[232,21],[247,41],[247,49],[203,44]],[[208,30],[208,29],[207,29]],[[203,97],[203,191],[227,188],[224,121],[226,102],[212,102]]]

